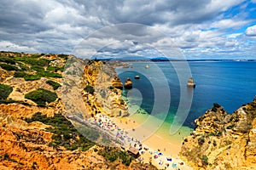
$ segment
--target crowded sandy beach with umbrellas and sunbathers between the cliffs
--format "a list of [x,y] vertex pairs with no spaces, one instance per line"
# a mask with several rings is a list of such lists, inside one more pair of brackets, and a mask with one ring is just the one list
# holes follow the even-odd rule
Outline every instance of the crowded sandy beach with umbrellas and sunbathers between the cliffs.
[[[152,133],[150,128],[147,129],[147,126],[143,125],[143,122],[150,118],[152,117],[146,114],[134,114],[128,117],[97,115],[90,121],[122,139],[123,149],[129,150],[132,147],[139,150],[140,156],[137,161],[152,163],[159,169],[191,169],[178,157],[181,141],[173,137],[166,138],[166,134],[163,135],[160,130]],[[157,124],[157,121],[154,122]],[[145,134],[150,135],[145,136]]]

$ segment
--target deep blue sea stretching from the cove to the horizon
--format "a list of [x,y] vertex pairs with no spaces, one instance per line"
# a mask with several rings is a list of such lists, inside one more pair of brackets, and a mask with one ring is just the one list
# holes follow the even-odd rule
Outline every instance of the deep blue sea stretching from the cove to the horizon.
[[[212,108],[213,103],[232,113],[242,104],[253,101],[256,95],[256,62],[253,61],[137,62],[132,65],[132,68],[116,69],[122,82],[126,77],[133,82],[133,89],[124,90],[123,95],[131,105],[140,105],[148,114],[165,122],[173,122],[176,117],[175,121],[183,126],[195,127],[195,119]],[[134,79],[137,75],[138,80]],[[194,78],[195,88],[187,87],[189,77]]]

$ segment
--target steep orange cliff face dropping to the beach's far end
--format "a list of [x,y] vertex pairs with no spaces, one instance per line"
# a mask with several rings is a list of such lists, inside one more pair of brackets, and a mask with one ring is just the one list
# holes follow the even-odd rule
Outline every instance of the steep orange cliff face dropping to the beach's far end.
[[90,60],[84,67],[83,98],[90,116],[127,116],[128,106],[121,96],[122,82],[113,67],[102,61]]

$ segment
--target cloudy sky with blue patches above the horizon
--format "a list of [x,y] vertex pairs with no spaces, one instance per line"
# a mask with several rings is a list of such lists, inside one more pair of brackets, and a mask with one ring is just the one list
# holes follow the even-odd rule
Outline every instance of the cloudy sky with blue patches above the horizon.
[[0,50],[256,59],[256,0],[148,2],[1,0]]

